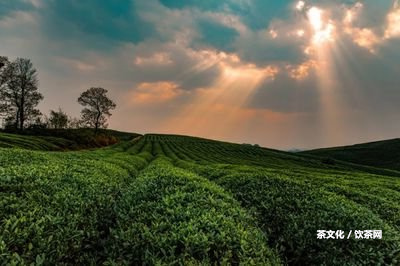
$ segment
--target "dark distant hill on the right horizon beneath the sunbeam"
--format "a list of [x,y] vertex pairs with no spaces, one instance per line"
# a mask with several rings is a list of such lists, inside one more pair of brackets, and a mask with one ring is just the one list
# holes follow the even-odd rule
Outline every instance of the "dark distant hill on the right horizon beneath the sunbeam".
[[298,154],[331,158],[379,168],[400,170],[400,139],[316,149]]

